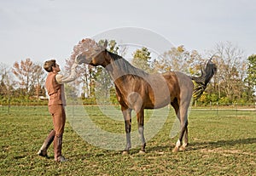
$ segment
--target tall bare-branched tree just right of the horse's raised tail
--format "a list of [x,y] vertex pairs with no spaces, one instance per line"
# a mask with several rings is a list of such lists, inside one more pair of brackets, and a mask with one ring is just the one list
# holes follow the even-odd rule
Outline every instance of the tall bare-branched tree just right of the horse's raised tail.
[[[240,48],[230,42],[218,43],[213,50],[218,72],[215,81],[218,85],[218,98],[226,96],[230,100],[241,96],[241,84],[245,72],[245,56]],[[238,90],[238,91],[237,91]],[[224,95],[222,95],[224,94]]]

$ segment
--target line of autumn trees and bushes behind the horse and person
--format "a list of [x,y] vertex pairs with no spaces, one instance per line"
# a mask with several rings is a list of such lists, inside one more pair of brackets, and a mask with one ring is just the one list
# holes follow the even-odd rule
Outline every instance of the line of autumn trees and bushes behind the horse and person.
[[[99,44],[103,42],[101,40]],[[88,47],[87,45],[86,39],[83,39],[74,46],[73,53],[66,60],[65,74],[69,73],[75,56]],[[127,48],[119,48],[114,40],[108,41],[108,50],[124,58],[127,52]],[[206,61],[212,57],[218,71],[197,103],[219,102],[229,105],[255,102],[256,54],[246,58],[240,48],[226,42],[216,44],[215,48],[204,55],[203,57],[196,50],[188,51],[183,45],[170,48],[161,55],[155,55],[148,48],[142,47],[134,51],[129,61],[148,73],[181,71],[188,75],[200,75]],[[34,63],[32,59],[15,62],[11,67],[1,63],[0,102],[41,102],[40,99],[46,96],[46,76],[43,63]],[[78,78],[66,85],[66,94],[68,98],[81,97],[84,104],[102,103],[106,99],[108,103],[117,103],[113,82],[102,67],[79,65]]]

